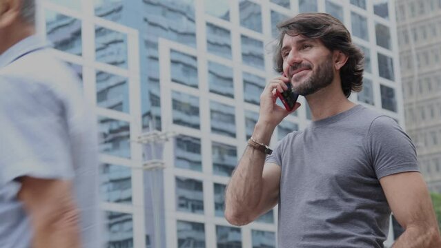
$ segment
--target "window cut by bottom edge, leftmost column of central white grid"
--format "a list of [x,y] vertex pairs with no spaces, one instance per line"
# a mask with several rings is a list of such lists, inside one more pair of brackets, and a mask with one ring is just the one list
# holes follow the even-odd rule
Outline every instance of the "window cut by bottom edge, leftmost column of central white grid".
[[204,223],[177,220],[177,247],[205,247]]

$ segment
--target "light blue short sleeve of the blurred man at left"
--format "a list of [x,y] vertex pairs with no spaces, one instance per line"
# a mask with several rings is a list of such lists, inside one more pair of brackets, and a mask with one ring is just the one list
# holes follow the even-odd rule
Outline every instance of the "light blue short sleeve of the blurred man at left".
[[0,185],[19,176],[73,177],[65,114],[48,87],[0,76]]

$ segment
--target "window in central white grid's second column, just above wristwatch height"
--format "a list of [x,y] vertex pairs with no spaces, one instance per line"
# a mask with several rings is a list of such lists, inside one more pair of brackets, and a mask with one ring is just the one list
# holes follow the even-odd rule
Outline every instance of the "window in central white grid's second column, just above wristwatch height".
[[211,132],[236,136],[235,109],[232,106],[210,101]]

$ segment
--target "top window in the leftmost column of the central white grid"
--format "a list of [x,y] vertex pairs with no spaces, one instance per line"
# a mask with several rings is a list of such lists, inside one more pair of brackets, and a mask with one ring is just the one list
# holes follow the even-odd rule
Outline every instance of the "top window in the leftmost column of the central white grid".
[[196,57],[171,50],[170,60],[172,81],[197,88],[198,80]]

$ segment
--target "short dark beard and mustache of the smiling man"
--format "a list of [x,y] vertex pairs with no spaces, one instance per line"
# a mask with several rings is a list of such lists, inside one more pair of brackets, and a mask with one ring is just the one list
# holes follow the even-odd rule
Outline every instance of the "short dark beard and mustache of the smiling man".
[[[308,79],[305,79],[303,83],[294,85],[293,82],[297,81],[294,76],[294,78],[291,79],[291,85],[293,87],[292,91],[300,94],[301,96],[307,96],[322,90],[328,85],[331,85],[332,81],[334,80],[334,72],[332,67],[332,54],[330,54],[324,62],[317,65],[316,70],[313,70],[313,74]],[[298,68],[311,68],[311,65],[297,65],[293,67],[293,70],[297,70]]]

